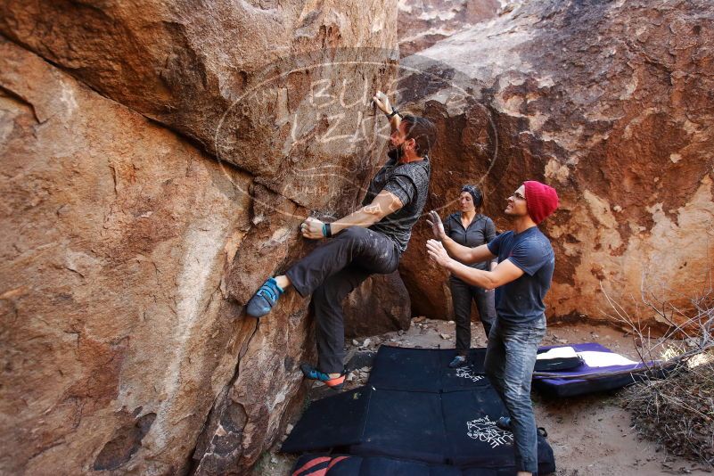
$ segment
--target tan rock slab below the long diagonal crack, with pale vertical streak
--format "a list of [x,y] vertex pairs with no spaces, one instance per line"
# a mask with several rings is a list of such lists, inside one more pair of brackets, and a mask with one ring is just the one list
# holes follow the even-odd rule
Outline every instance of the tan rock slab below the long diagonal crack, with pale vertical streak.
[[255,328],[250,176],[7,41],[0,91],[0,468],[181,472]]

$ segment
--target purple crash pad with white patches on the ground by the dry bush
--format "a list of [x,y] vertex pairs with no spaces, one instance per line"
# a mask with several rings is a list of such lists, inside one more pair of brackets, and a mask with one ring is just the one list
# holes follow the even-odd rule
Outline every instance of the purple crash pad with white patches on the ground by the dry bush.
[[[575,349],[575,351],[578,353],[594,351],[607,352],[612,355],[619,355],[615,352],[612,352],[611,349],[608,349],[595,342],[586,342],[582,344],[561,346],[547,346],[539,348],[538,351],[562,347],[571,347],[572,349]],[[620,387],[625,387],[626,385],[629,385],[634,382],[639,382],[644,379],[643,373],[622,373],[622,371],[636,371],[650,365],[652,365],[652,362],[647,364],[640,362],[634,365],[608,365],[591,367],[584,362],[583,364],[571,368],[569,370],[549,372],[549,374],[556,373],[558,375],[562,375],[562,377],[550,378],[534,375],[533,388],[535,390],[552,395],[554,397],[573,397],[576,395],[583,395],[597,391],[620,389]],[[603,373],[603,376],[589,379],[578,378],[580,375],[586,376],[600,373]],[[609,375],[609,373],[612,374]]]

